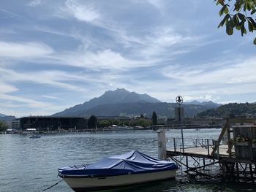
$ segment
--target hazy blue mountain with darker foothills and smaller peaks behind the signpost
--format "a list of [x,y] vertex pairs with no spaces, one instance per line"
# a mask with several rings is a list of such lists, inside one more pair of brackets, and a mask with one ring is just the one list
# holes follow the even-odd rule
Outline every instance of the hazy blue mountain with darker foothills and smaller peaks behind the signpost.
[[[124,88],[118,88],[116,91],[106,91],[98,98],[75,105],[53,116],[135,116],[143,114],[151,118],[152,112],[155,111],[157,115],[162,117],[174,117],[174,107],[177,107],[176,103],[165,103],[147,94],[138,94],[129,92]],[[190,117],[214,106],[184,104],[183,107],[185,108],[185,115]]]

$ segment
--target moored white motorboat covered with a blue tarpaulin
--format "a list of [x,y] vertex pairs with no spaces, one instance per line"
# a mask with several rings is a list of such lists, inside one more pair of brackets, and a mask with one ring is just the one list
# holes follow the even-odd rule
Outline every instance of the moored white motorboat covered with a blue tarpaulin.
[[157,180],[175,179],[178,166],[132,150],[94,164],[64,166],[61,177],[74,191],[99,191]]

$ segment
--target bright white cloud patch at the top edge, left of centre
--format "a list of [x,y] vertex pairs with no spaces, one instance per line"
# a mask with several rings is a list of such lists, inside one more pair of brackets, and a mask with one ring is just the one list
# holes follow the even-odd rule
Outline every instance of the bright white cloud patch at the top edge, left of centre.
[[67,0],[65,1],[65,8],[63,9],[64,12],[67,12],[72,17],[91,22],[99,18],[99,12],[97,12],[92,5],[85,6],[79,4],[78,1],[75,0]]

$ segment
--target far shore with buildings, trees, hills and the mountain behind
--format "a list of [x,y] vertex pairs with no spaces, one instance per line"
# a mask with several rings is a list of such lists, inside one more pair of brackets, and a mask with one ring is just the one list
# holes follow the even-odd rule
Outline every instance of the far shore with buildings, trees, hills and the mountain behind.
[[212,101],[190,101],[181,106],[159,101],[147,94],[129,92],[124,88],[106,91],[98,98],[75,105],[50,116],[15,118],[0,114],[1,133],[28,130],[101,131],[165,128],[219,128],[226,118],[256,118],[256,104],[216,104]]

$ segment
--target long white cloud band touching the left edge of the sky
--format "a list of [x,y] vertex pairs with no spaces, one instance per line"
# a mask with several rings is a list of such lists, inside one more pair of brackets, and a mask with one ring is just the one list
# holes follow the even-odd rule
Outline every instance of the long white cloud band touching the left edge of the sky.
[[37,58],[51,53],[51,47],[39,42],[0,42],[0,58]]

